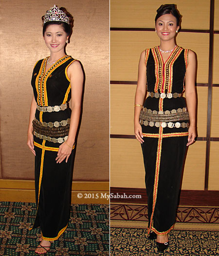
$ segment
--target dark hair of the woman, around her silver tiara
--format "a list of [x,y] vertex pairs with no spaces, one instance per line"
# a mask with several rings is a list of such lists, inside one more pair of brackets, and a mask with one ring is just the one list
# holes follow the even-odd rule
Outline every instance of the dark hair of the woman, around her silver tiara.
[[[65,33],[70,36],[72,35],[72,28],[73,28],[73,23],[74,23],[74,19],[73,16],[66,10],[65,7],[60,7],[59,10],[63,11],[66,16],[69,18],[70,24],[63,22],[63,21],[48,21],[43,25],[43,36],[44,33],[46,31],[46,28],[51,25],[51,24],[55,24],[55,25],[62,25]],[[44,16],[42,16],[42,21],[44,20]]]

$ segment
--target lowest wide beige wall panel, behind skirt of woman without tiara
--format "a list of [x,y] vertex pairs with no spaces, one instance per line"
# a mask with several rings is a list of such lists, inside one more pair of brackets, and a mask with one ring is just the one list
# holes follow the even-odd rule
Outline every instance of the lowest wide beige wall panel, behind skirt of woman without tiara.
[[[182,189],[204,189],[205,146],[205,141],[197,141],[189,147]],[[142,150],[136,139],[110,139],[110,187],[145,188]]]

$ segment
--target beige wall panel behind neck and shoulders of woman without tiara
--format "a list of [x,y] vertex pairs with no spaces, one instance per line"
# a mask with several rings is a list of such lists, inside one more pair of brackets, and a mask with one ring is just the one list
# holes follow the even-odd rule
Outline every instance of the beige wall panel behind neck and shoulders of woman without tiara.
[[[178,44],[192,49],[198,57],[197,82],[208,82],[209,35],[205,33],[179,33]],[[138,62],[145,48],[159,45],[155,32],[110,32],[110,80],[137,81]]]

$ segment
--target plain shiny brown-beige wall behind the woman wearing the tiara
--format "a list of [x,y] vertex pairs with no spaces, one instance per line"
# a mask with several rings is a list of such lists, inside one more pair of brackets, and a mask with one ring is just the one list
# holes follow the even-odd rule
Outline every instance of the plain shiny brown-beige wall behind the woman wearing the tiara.
[[[73,180],[109,180],[109,1],[56,0],[73,14],[67,54],[86,74],[83,116]],[[49,55],[41,16],[53,0],[11,0],[0,5],[0,178],[33,180],[34,156],[26,145],[31,77],[38,59]],[[1,183],[2,184],[2,183]],[[106,189],[106,188],[105,188]]]

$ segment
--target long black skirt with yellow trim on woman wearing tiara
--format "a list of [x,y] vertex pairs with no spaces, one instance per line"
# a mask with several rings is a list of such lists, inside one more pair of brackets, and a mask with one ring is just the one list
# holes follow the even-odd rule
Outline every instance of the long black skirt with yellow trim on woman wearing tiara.
[[60,144],[34,140],[37,215],[32,228],[40,227],[44,240],[55,240],[68,226],[75,148],[67,163],[56,163]]

